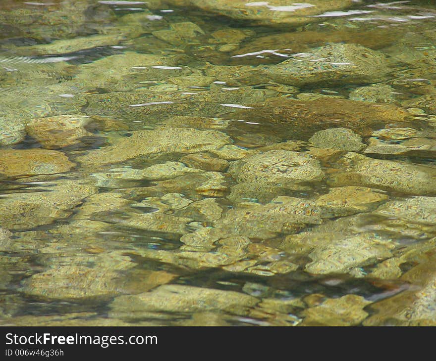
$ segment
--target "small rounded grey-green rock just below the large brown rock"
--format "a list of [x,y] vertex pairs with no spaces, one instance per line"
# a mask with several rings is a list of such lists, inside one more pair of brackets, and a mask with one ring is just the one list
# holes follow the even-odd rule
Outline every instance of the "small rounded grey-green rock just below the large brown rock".
[[356,151],[365,148],[362,137],[346,128],[332,128],[312,135],[309,142],[318,148]]

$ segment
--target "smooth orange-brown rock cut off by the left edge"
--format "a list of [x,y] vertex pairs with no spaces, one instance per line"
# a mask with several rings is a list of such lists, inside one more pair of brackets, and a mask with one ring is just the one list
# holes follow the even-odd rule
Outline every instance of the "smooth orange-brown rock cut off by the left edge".
[[74,165],[64,153],[55,150],[0,149],[0,177],[64,173]]

